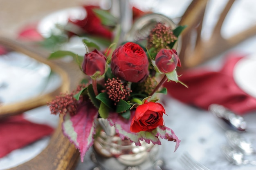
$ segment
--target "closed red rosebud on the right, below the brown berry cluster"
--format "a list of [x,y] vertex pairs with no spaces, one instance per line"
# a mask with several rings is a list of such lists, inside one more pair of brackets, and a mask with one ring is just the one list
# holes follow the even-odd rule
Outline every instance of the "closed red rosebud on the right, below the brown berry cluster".
[[162,73],[170,73],[177,66],[181,67],[180,58],[175,49],[161,49],[155,57],[155,65]]

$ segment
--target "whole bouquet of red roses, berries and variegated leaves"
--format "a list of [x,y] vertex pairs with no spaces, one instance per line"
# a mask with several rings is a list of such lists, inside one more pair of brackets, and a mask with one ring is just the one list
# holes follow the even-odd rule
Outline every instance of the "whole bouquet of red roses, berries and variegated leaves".
[[[101,29],[98,34],[89,31],[90,35],[109,39],[112,31],[105,34],[107,29],[103,26],[103,18],[106,19],[106,15],[108,20],[113,17],[107,11],[92,9],[87,7],[88,16],[97,18],[94,20],[97,23],[92,25],[100,22]],[[82,22],[72,21],[72,24],[82,28]],[[117,27],[111,25],[111,28]],[[89,28],[86,29],[88,32]],[[99,41],[87,37],[83,39],[87,49],[84,56],[70,51],[51,54],[49,58],[73,56],[85,77],[90,77],[85,78],[72,93],[56,96],[49,103],[52,114],[63,115],[63,133],[79,149],[81,161],[97,135],[95,125],[98,118],[107,119],[122,139],[130,139],[136,145],[140,145],[139,141],[161,144],[159,138],[162,138],[175,141],[175,150],[178,148],[180,140],[173,130],[164,125],[163,115],[166,112],[158,102],[157,94],[167,93],[162,87],[166,81],[181,83],[176,73],[176,67],[181,67],[181,63],[173,45],[183,29],[182,26],[174,29],[159,22],[151,30],[146,43],[124,42],[117,45],[117,35],[108,47],[100,48]]]

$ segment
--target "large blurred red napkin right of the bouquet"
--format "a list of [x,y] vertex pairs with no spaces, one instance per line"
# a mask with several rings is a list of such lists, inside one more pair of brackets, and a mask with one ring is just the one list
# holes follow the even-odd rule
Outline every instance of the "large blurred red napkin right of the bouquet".
[[182,73],[180,83],[167,82],[165,87],[173,98],[183,103],[207,110],[216,103],[227,107],[236,114],[245,114],[256,110],[256,98],[246,94],[236,85],[233,69],[238,60],[245,55],[229,54],[222,69],[213,72],[208,68],[189,69]]

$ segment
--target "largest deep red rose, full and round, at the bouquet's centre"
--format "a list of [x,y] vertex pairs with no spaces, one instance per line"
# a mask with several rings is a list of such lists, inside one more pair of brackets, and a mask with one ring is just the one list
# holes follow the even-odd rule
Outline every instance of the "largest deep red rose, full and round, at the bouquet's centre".
[[148,76],[146,53],[133,42],[127,42],[115,49],[110,67],[115,76],[134,83],[143,81]]

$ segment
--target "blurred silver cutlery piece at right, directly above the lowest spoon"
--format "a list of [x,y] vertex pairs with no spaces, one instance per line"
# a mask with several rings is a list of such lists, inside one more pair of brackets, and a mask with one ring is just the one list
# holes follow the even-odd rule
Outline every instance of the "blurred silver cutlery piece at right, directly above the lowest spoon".
[[225,136],[229,145],[232,148],[239,149],[243,154],[250,155],[255,153],[252,143],[243,138],[238,132],[228,130],[225,132]]

